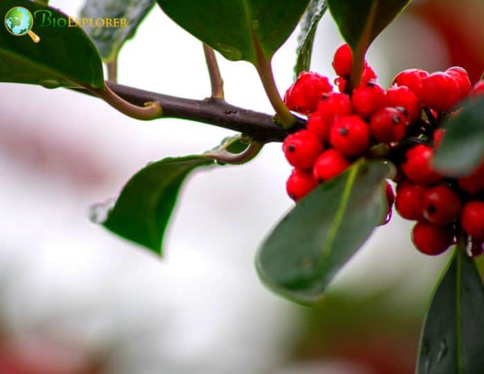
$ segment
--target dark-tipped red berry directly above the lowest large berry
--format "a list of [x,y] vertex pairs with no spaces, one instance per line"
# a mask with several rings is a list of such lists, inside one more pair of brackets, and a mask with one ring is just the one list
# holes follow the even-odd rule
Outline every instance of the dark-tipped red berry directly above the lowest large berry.
[[437,186],[425,193],[423,213],[431,223],[452,223],[458,217],[461,207],[460,198],[449,187]]

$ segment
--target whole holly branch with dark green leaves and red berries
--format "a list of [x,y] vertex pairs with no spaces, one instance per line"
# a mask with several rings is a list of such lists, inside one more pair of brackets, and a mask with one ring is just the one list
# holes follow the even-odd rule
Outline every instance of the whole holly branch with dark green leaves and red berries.
[[[295,205],[261,243],[255,264],[268,288],[297,303],[324,297],[375,227],[390,220],[395,202],[400,216],[416,221],[417,250],[452,250],[431,297],[416,373],[482,374],[484,288],[475,258],[484,252],[484,81],[470,82],[460,67],[411,67],[387,89],[377,83],[366,51],[409,2],[86,0],[82,17],[126,17],[128,26],[43,28],[39,43],[0,28],[0,80],[94,95],[136,120],[184,118],[240,133],[198,155],[151,163],[113,203],[95,207],[106,229],[160,256],[189,174],[243,165],[264,144],[282,142],[294,167],[286,187]],[[2,0],[0,10],[49,10],[67,20],[46,3]],[[190,100],[115,82],[120,48],[155,6],[201,41],[210,97]],[[309,71],[326,10],[347,43],[335,51],[335,80]],[[271,59],[298,24],[296,79],[281,98]],[[214,50],[254,66],[274,115],[225,102]]]

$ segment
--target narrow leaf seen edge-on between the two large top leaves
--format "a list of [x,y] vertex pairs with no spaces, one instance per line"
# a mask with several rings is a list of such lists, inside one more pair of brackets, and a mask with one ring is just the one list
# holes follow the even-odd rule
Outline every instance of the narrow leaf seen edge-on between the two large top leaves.
[[301,71],[309,71],[317,25],[326,13],[324,0],[312,0],[301,21],[301,31],[297,38],[297,61],[294,68],[295,79]]

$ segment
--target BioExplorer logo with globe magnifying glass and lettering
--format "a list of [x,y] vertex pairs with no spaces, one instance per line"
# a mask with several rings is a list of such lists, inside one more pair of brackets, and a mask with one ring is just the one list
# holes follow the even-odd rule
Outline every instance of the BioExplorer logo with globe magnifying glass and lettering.
[[32,41],[39,43],[39,35],[32,31],[34,21],[41,28],[124,28],[128,26],[126,18],[64,17],[48,9],[35,10],[32,15],[30,10],[22,6],[11,8],[5,15],[5,27],[10,34],[16,37],[28,35]]

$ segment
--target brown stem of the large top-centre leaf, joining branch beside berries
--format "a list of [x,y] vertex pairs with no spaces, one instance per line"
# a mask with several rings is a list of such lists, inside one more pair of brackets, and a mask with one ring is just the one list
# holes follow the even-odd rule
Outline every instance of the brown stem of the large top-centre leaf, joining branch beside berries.
[[284,129],[290,129],[297,122],[294,115],[292,115],[277,91],[276,82],[274,80],[274,75],[272,74],[272,66],[270,60],[266,59],[257,37],[252,37],[254,40],[254,46],[257,55],[257,73],[261,77],[261,82],[266,90],[266,95],[272,104],[272,108],[276,111],[276,122],[280,122]]

